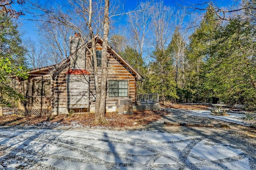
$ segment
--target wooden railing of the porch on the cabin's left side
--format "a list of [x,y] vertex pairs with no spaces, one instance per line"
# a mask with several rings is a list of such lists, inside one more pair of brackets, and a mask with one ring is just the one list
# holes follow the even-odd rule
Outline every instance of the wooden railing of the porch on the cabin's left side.
[[50,96],[24,96],[25,100],[20,101],[21,107],[48,107]]

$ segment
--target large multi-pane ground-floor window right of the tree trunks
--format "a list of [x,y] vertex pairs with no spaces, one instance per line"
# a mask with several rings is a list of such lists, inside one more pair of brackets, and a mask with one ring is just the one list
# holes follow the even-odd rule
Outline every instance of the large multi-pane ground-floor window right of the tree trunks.
[[108,97],[128,97],[128,81],[108,81]]

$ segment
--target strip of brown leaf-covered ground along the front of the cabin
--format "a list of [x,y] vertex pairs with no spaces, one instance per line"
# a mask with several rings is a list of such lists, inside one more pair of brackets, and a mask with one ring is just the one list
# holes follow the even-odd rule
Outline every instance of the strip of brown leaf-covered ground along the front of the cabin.
[[166,114],[164,111],[136,111],[134,114],[118,114],[106,113],[107,124],[94,125],[94,114],[69,114],[56,115],[52,117],[35,117],[35,116],[20,116],[16,114],[5,115],[0,117],[0,125],[2,126],[25,126],[25,125],[42,125],[46,123],[58,123],[59,125],[77,124],[80,127],[107,127],[107,128],[130,128],[138,125],[147,125],[150,122],[156,121]]

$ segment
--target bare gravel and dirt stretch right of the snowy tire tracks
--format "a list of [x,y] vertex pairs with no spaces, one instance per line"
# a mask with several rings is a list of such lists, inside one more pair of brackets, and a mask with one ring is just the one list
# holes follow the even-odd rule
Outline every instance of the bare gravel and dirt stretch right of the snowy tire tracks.
[[[256,158],[256,128],[246,127],[236,123],[221,121],[210,117],[196,116],[191,114],[191,112],[188,110],[180,110],[169,107],[166,111],[167,115],[164,115],[158,121],[154,121],[149,125],[145,125],[144,128],[148,130],[158,130],[159,132],[168,132],[172,134],[201,136],[202,139],[205,138],[212,142],[223,143],[227,146],[242,149],[244,152],[246,152],[246,154]],[[164,121],[174,123],[181,122],[200,123],[205,125],[210,124],[214,125],[214,127],[165,125],[163,124]]]

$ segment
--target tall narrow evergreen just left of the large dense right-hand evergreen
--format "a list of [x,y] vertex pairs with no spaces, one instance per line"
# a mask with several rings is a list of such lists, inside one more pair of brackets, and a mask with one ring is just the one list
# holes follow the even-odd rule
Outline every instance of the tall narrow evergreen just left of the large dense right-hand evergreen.
[[191,94],[192,102],[205,101],[206,91],[203,87],[205,80],[204,63],[211,57],[213,51],[210,48],[212,40],[214,40],[215,30],[218,26],[216,16],[210,9],[206,11],[204,19],[194,34],[190,36],[190,43],[187,49],[187,85],[186,89]]

